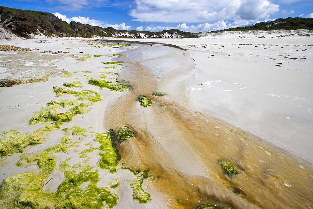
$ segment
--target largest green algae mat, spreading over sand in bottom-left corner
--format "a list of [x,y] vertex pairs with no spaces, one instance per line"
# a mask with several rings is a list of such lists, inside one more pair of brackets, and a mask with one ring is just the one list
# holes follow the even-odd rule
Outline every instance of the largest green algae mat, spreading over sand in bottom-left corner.
[[[112,208],[117,205],[118,196],[112,194],[108,187],[98,187],[99,171],[85,167],[76,174],[68,168],[68,160],[60,165],[64,172],[64,180],[56,192],[43,189],[49,183],[49,178],[56,168],[56,152],[66,152],[64,147],[70,147],[70,139],[64,139],[44,151],[23,154],[18,162],[19,166],[35,165],[38,169],[20,173],[5,178],[1,183],[0,199],[2,205],[8,208]],[[61,148],[61,149],[60,149]],[[81,167],[81,166],[80,166]],[[83,183],[88,185],[80,188]]]

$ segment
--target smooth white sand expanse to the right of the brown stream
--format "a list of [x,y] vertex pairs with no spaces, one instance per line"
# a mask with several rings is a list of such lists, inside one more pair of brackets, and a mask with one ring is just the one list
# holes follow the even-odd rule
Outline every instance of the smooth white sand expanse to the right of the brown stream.
[[313,37],[271,38],[292,33],[224,32],[153,41],[185,48],[195,60],[194,84],[187,86],[195,109],[312,163]]

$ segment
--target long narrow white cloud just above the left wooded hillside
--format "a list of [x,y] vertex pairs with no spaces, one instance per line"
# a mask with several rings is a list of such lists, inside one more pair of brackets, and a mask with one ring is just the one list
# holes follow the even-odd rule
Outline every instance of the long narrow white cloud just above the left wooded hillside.
[[103,22],[102,20],[95,20],[95,19],[89,19],[89,17],[72,17],[72,18],[67,18],[66,15],[62,15],[60,13],[53,13],[55,16],[58,18],[66,21],[67,23],[70,23],[71,21],[83,23],[83,24],[89,24],[89,25],[94,25],[94,26],[100,26],[102,28],[107,28],[107,27],[112,27],[117,30],[131,30],[131,26],[126,25],[125,23],[122,24],[108,24],[106,22]]

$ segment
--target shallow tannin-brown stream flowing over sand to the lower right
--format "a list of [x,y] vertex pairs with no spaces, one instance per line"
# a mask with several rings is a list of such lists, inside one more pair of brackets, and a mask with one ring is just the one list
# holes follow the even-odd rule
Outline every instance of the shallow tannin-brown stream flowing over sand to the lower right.
[[[195,63],[186,51],[144,46],[126,51],[119,77],[133,86],[106,112],[107,129],[128,124],[137,137],[117,146],[121,162],[150,169],[151,185],[168,208],[312,208],[313,169],[282,150],[218,119],[192,110],[186,85]],[[165,96],[151,96],[155,91]],[[152,106],[136,98],[145,94]],[[223,174],[229,159],[239,174]],[[153,196],[151,196],[153,198]]]

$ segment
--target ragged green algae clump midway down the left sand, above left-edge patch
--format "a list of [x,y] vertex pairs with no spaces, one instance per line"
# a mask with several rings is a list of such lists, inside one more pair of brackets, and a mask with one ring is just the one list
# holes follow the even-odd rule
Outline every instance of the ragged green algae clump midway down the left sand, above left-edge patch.
[[43,112],[36,112],[33,117],[28,121],[28,125],[33,125],[41,122],[54,122],[54,125],[59,128],[62,124],[73,120],[75,115],[84,114],[87,110],[83,110],[82,107],[86,106],[85,103],[76,105],[69,109],[70,111],[59,113],[56,110],[48,110]]

